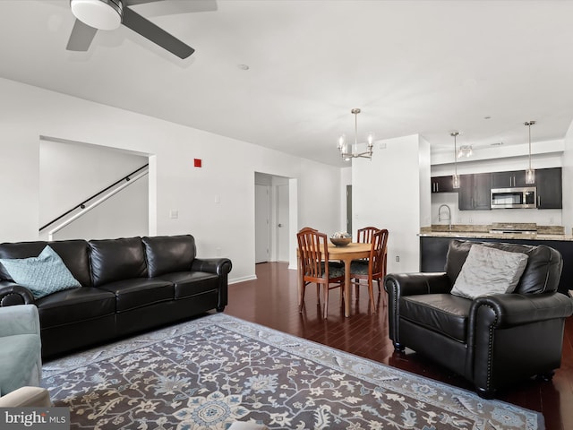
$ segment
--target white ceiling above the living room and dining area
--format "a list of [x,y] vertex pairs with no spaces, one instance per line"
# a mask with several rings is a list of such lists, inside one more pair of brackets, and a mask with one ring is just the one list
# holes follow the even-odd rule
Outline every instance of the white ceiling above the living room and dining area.
[[[0,76],[344,166],[338,135],[432,151],[562,139],[573,1],[165,0],[133,10],[196,49],[120,27],[65,50],[69,0],[0,1]],[[198,12],[202,10],[202,12]],[[243,70],[239,64],[249,66]],[[376,154],[374,153],[374,157]]]

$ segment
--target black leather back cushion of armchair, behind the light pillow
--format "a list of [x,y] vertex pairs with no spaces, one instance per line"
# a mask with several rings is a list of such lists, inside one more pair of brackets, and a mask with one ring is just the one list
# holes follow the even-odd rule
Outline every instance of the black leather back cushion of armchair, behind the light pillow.
[[526,269],[517,283],[515,293],[536,294],[556,291],[563,261],[559,251],[545,245],[518,245],[504,244],[499,242],[472,242],[464,240],[452,240],[449,242],[448,255],[446,257],[445,271],[448,274],[451,285],[458,279],[467,254],[472,245],[479,244],[490,246],[510,253],[527,254]]

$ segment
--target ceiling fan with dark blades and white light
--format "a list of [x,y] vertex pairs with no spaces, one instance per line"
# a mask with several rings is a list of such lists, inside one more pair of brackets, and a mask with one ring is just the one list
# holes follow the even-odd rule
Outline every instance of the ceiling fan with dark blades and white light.
[[73,16],[72,34],[66,47],[69,51],[87,51],[98,30],[115,30],[120,24],[150,39],[179,58],[191,56],[195,50],[176,39],[166,30],[133,12],[129,6],[162,0],[70,0]]

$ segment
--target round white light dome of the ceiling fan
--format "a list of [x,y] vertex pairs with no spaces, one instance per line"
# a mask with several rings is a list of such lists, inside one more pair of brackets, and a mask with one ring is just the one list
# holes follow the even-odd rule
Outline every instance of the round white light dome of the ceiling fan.
[[73,16],[98,30],[115,30],[122,23],[120,0],[70,0]]

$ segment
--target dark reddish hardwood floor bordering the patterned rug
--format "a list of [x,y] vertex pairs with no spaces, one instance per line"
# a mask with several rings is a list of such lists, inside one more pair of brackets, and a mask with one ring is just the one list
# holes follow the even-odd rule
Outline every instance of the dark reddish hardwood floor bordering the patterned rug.
[[[411,350],[406,349],[403,354],[394,351],[388,337],[388,307],[383,288],[380,295],[374,294],[378,302],[376,314],[370,313],[366,288],[357,297],[353,294],[349,318],[343,316],[338,290],[331,290],[329,317],[325,320],[313,286],[306,288],[304,311],[298,312],[296,271],[288,270],[286,263],[258,264],[256,272],[257,280],[229,286],[226,314],[473,390],[472,384]],[[374,288],[377,289],[376,284]],[[497,399],[542,412],[548,430],[573,430],[573,317],[566,322],[561,367],[552,382],[526,381],[500,392]]]

